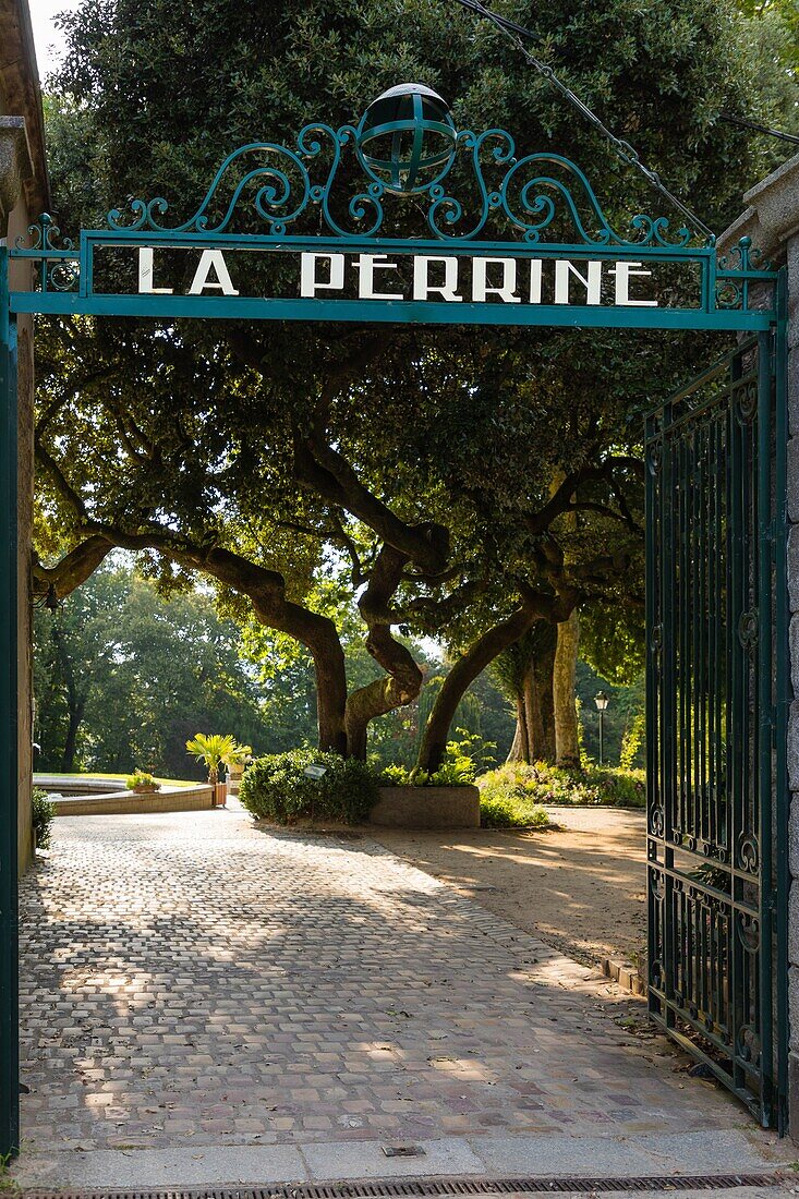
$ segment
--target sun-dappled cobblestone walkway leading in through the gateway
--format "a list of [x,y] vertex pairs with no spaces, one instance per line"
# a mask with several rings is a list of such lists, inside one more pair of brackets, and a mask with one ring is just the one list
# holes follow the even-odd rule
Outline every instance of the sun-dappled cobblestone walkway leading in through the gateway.
[[[77,1163],[114,1150],[184,1152],[185,1175],[230,1146],[301,1146],[342,1176],[348,1144],[461,1145],[452,1173],[546,1170],[565,1138],[603,1169],[591,1146],[615,1138],[632,1170],[633,1145],[686,1131],[716,1157],[725,1137],[771,1144],[665,1042],[620,1028],[631,1004],[609,984],[368,839],[266,833],[241,812],[61,819],[23,904],[29,1180],[55,1155],[85,1181]],[[529,1138],[548,1146],[535,1162]]]

